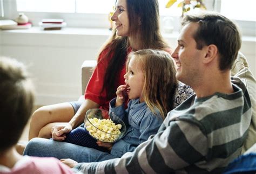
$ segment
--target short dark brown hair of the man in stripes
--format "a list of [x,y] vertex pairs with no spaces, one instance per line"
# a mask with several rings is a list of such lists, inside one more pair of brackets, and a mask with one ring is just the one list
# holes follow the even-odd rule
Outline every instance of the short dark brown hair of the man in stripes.
[[241,34],[238,26],[232,20],[215,12],[187,15],[181,25],[198,23],[194,39],[198,50],[205,45],[215,45],[218,48],[220,70],[231,69],[241,47]]

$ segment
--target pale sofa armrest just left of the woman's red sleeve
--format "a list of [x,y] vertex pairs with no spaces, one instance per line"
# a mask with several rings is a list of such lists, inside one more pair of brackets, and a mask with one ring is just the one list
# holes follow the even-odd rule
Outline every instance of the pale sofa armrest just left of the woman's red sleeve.
[[96,60],[85,60],[82,64],[82,95],[84,95],[87,83],[92,75],[92,68],[97,65]]

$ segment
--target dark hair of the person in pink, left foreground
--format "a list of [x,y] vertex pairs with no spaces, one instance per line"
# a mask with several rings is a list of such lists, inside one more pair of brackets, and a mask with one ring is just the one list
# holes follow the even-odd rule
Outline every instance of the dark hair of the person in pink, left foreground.
[[34,92],[24,65],[0,57],[0,152],[15,145],[32,112]]

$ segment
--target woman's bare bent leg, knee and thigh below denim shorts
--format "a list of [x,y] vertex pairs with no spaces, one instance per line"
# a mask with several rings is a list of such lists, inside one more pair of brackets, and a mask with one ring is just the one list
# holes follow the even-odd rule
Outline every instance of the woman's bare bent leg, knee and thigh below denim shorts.
[[[74,109],[70,103],[59,103],[56,105],[43,106],[37,109],[31,117],[30,128],[29,128],[29,140],[39,136],[39,132],[43,127],[49,123],[54,122],[69,122],[75,115]],[[45,138],[49,138],[51,135],[52,125],[46,126],[41,136],[46,135]]]

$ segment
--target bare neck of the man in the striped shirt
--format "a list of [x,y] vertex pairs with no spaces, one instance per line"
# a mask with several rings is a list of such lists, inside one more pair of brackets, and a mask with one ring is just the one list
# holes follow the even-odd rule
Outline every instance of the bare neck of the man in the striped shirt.
[[199,84],[191,86],[198,98],[213,95],[217,92],[224,94],[231,94],[234,92],[230,80],[230,73],[217,73],[202,78]]

